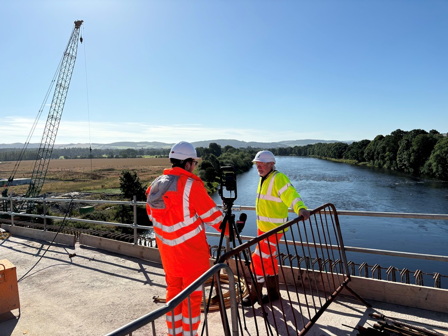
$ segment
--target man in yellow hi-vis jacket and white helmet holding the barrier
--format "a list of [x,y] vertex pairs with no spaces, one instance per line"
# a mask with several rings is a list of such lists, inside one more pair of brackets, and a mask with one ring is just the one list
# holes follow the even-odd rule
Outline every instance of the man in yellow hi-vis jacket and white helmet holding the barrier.
[[[262,150],[255,155],[253,161],[260,175],[255,209],[257,215],[258,235],[272,230],[288,221],[288,208],[294,210],[304,220],[308,220],[309,212],[302,198],[297,193],[288,177],[276,170],[275,157],[272,152]],[[283,233],[277,233],[280,240]],[[251,307],[261,297],[264,276],[266,274],[266,289],[268,295],[262,297],[264,303],[279,299],[278,264],[272,263],[270,255],[277,255],[277,240],[275,236],[264,239],[252,253],[252,270],[257,283],[252,284],[249,295],[243,299],[243,306]],[[257,296],[258,293],[258,296]]]

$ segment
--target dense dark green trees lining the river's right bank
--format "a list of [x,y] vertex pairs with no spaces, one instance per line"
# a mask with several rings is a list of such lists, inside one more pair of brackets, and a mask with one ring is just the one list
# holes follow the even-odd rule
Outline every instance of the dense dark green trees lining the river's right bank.
[[315,143],[270,150],[278,156],[297,155],[347,160],[354,164],[448,180],[448,137],[436,130],[426,132],[421,129],[397,129],[390,135],[378,135],[371,141],[361,140],[350,145],[344,142]]

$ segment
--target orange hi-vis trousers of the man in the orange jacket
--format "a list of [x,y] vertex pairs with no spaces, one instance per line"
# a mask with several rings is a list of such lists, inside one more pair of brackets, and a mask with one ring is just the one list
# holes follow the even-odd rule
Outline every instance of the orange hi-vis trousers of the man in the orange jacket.
[[[167,281],[167,303],[188,287],[198,276],[189,276],[185,278],[173,277],[168,274],[165,276]],[[172,325],[171,311],[167,314],[167,326],[169,336],[196,336],[200,323],[200,306],[202,303],[202,287],[199,287],[190,295],[191,323],[188,313],[188,299],[182,301],[182,304],[174,308],[174,326]]]

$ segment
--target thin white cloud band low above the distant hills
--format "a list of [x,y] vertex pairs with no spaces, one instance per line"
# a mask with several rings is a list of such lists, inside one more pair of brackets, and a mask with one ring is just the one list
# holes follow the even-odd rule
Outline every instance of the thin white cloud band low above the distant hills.
[[[0,143],[25,142],[34,120],[23,117],[6,117]],[[46,121],[39,121],[29,141],[40,142]],[[266,125],[269,128],[269,125]],[[202,141],[235,139],[241,141],[275,142],[298,139],[328,139],[320,132],[275,131],[272,129],[208,127],[203,124],[160,125],[137,122],[90,122],[61,120],[56,144],[68,143],[110,143],[117,141],[160,141],[175,143],[181,140]]]

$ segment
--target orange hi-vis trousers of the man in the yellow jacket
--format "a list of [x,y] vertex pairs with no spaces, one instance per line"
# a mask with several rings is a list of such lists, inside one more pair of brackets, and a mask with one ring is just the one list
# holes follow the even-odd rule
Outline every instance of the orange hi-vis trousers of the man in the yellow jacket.
[[[263,231],[258,229],[258,236],[263,233]],[[276,236],[270,236],[268,239],[260,241],[252,253],[252,272],[255,274],[258,282],[264,282],[263,271],[266,276],[273,276],[278,273],[277,241],[280,241],[283,233],[277,233],[276,235],[277,238]],[[273,259],[271,259],[271,253]]]

